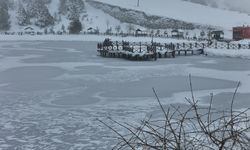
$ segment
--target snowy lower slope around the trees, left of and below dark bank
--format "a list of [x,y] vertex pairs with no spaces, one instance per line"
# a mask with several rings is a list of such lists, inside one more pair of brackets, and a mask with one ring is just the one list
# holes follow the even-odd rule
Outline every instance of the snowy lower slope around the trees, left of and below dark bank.
[[[70,20],[67,18],[66,15],[59,14],[58,7],[59,7],[60,0],[52,0],[50,4],[47,5],[48,10],[53,17],[60,18],[58,21],[55,21],[55,24],[53,26],[48,26],[46,28],[53,29],[55,32],[60,31],[62,26],[65,26],[67,30],[67,26],[70,23]],[[17,6],[16,6],[17,7]],[[18,25],[17,21],[17,9],[10,10],[10,22],[11,22],[11,28],[10,31],[22,31],[27,26],[31,26],[36,31],[43,32],[45,28],[39,28],[34,24],[20,26]],[[55,17],[56,16],[56,17]],[[94,28],[98,29],[100,32],[105,32],[107,30],[107,26],[115,29],[116,26],[120,26],[121,30],[125,30],[128,24],[126,23],[120,23],[119,20],[109,16],[108,14],[105,14],[103,11],[98,10],[90,6],[88,3],[85,3],[85,10],[80,15],[80,21],[83,25],[82,31],[87,31],[88,28]],[[108,25],[107,25],[108,24]]]

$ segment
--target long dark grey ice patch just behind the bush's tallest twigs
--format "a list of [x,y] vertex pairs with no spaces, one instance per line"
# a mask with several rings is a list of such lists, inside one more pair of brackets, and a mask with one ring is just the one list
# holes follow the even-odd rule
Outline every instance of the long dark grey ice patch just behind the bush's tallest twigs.
[[[233,88],[236,82],[204,77],[193,77],[193,90],[209,90]],[[161,78],[145,78],[140,81],[126,82],[122,84],[105,83],[99,85],[106,87],[105,97],[152,97],[152,87],[157,90],[160,97],[170,97],[174,93],[190,91],[188,77],[171,76]]]

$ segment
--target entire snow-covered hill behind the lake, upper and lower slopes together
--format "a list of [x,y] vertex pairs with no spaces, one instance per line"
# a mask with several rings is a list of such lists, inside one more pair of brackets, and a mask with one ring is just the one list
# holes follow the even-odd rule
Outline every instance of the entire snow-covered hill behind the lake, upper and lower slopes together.
[[[34,24],[26,26],[18,25],[16,19],[17,3],[20,1],[15,1],[16,5],[14,9],[9,10],[11,21],[10,31],[20,31],[27,26],[31,26],[36,31],[43,32],[44,27],[37,27]],[[101,3],[102,7],[95,7],[93,2]],[[227,5],[224,5],[223,9],[219,9],[212,8],[210,5],[205,6],[193,3],[195,0],[139,0],[139,6],[137,6],[137,2],[137,0],[84,0],[85,11],[80,15],[83,32],[86,32],[89,28],[98,29],[100,32],[105,32],[108,28],[112,28],[113,32],[115,32],[118,26],[121,28],[120,31],[127,32],[130,24],[134,24],[134,29],[140,27],[147,30],[153,27],[155,29],[173,27],[192,29],[202,26],[218,27],[227,31],[230,31],[233,26],[250,25],[250,16],[247,13],[230,11],[229,9],[225,10],[224,8]],[[241,0],[241,2],[244,4],[244,0]],[[59,13],[59,3],[60,0],[51,0],[47,4],[51,16],[60,18],[55,21],[53,26],[46,27],[53,29],[55,32],[61,30],[62,26],[65,26],[67,29],[70,23],[66,15]],[[107,5],[114,7],[106,7]],[[108,9],[109,12],[105,11],[105,9]],[[122,12],[124,10],[130,12],[129,16],[126,16]],[[117,17],[116,12],[118,11],[121,11],[119,13],[120,18]],[[132,20],[130,19],[131,17],[133,17]],[[144,20],[138,22],[143,17]]]

